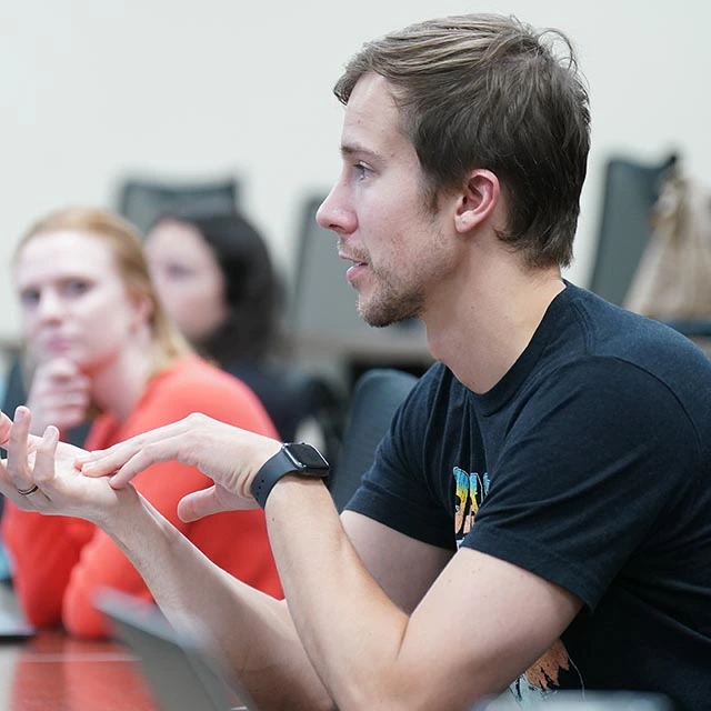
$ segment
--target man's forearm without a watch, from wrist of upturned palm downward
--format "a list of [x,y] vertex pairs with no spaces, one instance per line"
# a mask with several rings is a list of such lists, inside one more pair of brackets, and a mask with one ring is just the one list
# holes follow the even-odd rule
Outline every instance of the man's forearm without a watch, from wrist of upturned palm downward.
[[144,499],[104,529],[173,623],[199,618],[212,652],[263,709],[331,709],[283,601],[236,580]]

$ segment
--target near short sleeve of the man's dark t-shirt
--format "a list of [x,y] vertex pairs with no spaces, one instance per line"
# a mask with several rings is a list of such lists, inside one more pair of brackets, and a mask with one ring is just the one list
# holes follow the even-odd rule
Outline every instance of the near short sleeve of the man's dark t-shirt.
[[688,495],[698,433],[645,371],[590,359],[523,402],[463,545],[554,582],[593,609]]

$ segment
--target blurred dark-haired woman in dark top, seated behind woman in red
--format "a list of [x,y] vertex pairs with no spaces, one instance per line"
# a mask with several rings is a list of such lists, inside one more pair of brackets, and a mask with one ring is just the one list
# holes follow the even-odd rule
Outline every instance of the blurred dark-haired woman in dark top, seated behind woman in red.
[[236,212],[177,211],[146,238],[156,289],[182,334],[247,383],[280,435],[293,439],[308,403],[274,365],[282,286],[256,228]]

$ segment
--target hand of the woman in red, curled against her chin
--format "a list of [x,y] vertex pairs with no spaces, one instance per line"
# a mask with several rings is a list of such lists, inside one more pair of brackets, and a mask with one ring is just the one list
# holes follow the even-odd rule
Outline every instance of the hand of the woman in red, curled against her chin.
[[91,401],[90,389],[90,379],[68,358],[40,363],[27,400],[32,434],[41,435],[50,424],[61,432],[81,424]]

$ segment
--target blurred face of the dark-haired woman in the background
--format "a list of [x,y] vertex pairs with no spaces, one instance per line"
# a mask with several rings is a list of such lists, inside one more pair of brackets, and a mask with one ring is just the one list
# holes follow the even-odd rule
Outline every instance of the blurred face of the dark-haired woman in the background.
[[191,224],[166,220],[149,232],[146,256],[170,318],[189,341],[204,341],[228,316],[224,274],[212,248]]

